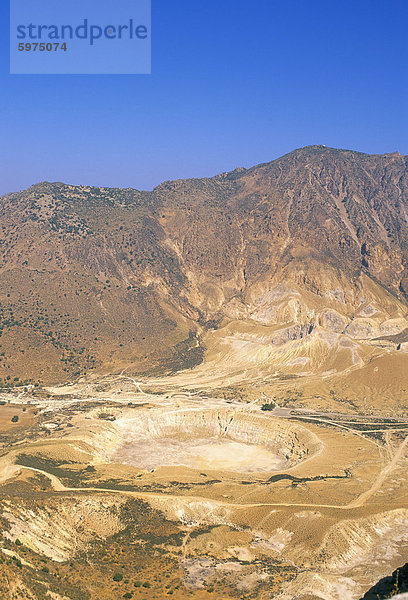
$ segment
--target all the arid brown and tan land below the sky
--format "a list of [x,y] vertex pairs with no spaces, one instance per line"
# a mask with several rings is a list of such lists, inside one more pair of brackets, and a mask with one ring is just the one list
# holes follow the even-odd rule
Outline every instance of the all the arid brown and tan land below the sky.
[[408,164],[0,199],[0,597],[359,600],[408,561]]

